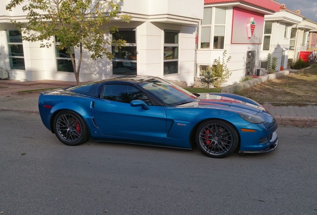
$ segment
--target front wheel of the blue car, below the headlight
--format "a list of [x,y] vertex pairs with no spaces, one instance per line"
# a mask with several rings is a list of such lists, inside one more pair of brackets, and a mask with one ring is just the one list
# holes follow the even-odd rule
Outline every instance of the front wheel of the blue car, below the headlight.
[[202,122],[196,130],[196,144],[203,154],[213,158],[223,158],[237,148],[239,136],[236,129],[220,119]]

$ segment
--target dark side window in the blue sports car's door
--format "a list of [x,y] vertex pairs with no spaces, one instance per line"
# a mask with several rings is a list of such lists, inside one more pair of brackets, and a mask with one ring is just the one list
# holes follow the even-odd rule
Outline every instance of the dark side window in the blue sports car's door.
[[137,88],[129,85],[105,85],[102,98],[122,103],[130,103],[133,100],[142,100],[147,105],[153,105],[146,94],[142,93]]

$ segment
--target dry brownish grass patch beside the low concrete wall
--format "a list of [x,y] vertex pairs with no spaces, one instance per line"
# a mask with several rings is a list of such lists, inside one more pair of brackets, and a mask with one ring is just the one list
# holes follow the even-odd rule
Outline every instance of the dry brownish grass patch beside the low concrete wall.
[[317,64],[241,91],[260,104],[274,106],[317,105]]

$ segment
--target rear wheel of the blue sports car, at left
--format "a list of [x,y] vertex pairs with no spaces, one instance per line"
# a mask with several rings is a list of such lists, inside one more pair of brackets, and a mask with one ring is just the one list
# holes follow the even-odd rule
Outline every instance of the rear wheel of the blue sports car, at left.
[[88,128],[84,119],[73,111],[58,112],[53,126],[56,137],[66,145],[80,145],[88,140]]

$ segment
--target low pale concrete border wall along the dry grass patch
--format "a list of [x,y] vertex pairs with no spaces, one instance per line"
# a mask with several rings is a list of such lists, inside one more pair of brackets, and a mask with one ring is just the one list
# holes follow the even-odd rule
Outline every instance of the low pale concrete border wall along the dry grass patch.
[[233,85],[229,85],[229,86],[223,87],[222,90],[221,90],[221,93],[235,93],[235,92],[238,92],[238,91],[253,87],[253,86],[257,85],[257,84],[260,84],[260,83],[263,83],[263,82],[266,82],[266,81],[270,81],[272,79],[276,79],[276,78],[281,77],[281,76],[286,76],[288,74],[290,74],[290,71],[288,71],[288,70],[279,71],[279,72],[275,72],[273,74],[261,76],[261,77],[254,78],[254,79],[251,79],[251,80],[248,80],[248,81],[236,83],[236,84],[233,84]]

